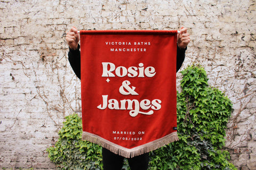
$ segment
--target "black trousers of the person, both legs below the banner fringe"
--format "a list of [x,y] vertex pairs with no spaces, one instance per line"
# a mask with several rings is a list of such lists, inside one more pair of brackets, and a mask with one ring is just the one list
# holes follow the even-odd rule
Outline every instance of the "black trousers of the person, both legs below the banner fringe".
[[[121,170],[124,157],[116,155],[108,149],[102,148],[102,160],[104,170]],[[149,153],[127,158],[131,170],[147,170],[149,162]]]

